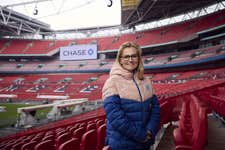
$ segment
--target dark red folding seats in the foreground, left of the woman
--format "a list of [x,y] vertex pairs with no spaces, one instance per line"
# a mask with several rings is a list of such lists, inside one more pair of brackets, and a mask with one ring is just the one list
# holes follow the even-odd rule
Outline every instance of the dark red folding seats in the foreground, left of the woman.
[[[55,130],[21,136],[1,142],[5,150],[101,150],[104,146],[105,121],[95,119]],[[75,147],[76,146],[76,147]]]

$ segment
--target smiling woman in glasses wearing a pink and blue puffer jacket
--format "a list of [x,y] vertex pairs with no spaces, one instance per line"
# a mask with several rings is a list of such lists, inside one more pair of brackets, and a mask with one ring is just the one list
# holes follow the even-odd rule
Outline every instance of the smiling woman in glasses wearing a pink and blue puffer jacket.
[[160,107],[144,77],[141,48],[122,44],[102,89],[106,145],[111,150],[149,150],[159,129]]

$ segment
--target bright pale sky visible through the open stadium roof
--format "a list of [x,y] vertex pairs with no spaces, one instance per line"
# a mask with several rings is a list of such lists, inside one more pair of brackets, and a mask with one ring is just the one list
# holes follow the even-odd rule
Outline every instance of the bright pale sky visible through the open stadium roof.
[[[120,0],[113,0],[111,7],[107,6],[109,3],[109,0],[0,0],[1,6],[8,5],[9,9],[48,23],[57,30],[119,25]],[[37,15],[33,14],[35,8]]]

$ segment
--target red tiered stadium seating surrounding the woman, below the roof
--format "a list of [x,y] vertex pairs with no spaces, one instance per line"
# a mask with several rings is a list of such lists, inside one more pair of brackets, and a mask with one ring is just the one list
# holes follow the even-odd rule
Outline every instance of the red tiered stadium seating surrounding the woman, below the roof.
[[[32,126],[23,124],[19,131],[2,134],[0,149],[109,149],[104,145],[106,118],[101,89],[117,49],[128,40],[143,48],[145,76],[151,78],[160,102],[160,129],[153,149],[164,150],[165,145],[168,150],[210,149],[212,119],[221,125],[215,128],[220,131],[218,135],[224,133],[224,16],[225,11],[220,10],[184,22],[108,37],[1,38],[1,103],[45,107],[52,106],[54,100],[78,98],[86,98],[88,103],[82,109],[73,108],[69,114],[69,107],[63,107],[57,112],[65,115],[57,119],[35,120]],[[98,45],[97,59],[62,61],[58,56],[61,47],[90,43]],[[100,58],[100,54],[105,58]],[[164,137],[169,130],[166,141],[172,142],[167,144]],[[213,146],[224,148],[223,140],[215,141],[220,144]]]

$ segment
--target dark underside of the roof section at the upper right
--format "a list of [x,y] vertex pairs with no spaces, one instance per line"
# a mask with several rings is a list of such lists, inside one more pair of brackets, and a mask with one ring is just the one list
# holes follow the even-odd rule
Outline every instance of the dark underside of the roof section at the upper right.
[[174,17],[222,1],[224,0],[133,0],[133,5],[122,3],[122,25],[134,26]]

